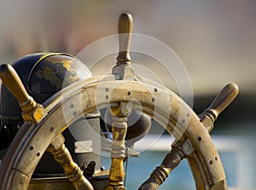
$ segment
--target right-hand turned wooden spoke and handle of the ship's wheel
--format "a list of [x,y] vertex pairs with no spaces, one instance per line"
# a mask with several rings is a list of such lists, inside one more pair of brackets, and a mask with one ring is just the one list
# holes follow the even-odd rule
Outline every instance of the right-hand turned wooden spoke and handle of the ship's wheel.
[[[238,95],[238,87],[235,83],[229,83],[227,84],[224,89],[222,89],[218,95],[215,97],[215,99],[212,101],[212,104],[210,107],[208,107],[199,117],[201,118],[201,123],[204,124],[208,132],[210,133],[213,128],[213,123],[218,117],[218,114],[220,112],[223,112],[226,107],[230,105],[232,101],[235,100],[236,96]],[[201,141],[202,137],[198,137],[198,141]],[[188,139],[186,141],[189,141]],[[197,168],[197,165],[195,162],[198,162],[198,159],[196,158],[196,155],[193,154],[194,148],[191,151],[190,158],[188,157],[188,161],[191,167],[191,170],[193,170],[193,174],[195,179],[198,178],[198,183],[196,186],[199,189],[202,189],[204,187],[204,181],[207,181],[207,176],[201,181],[201,179],[198,177],[201,175],[201,169]],[[143,185],[139,188],[140,190],[147,189],[147,190],[156,190],[157,187],[160,186],[164,181],[166,181],[166,177],[169,175],[169,173],[177,167],[177,164],[180,163],[180,161],[184,158],[183,156],[183,147],[179,145],[172,145],[171,153],[168,153],[166,155],[166,158],[163,160],[162,164],[158,166],[150,175],[147,181],[143,182]],[[194,157],[193,159],[191,159]],[[218,160],[218,157],[214,158]],[[213,159],[209,161],[209,163],[213,164]],[[209,178],[209,177],[208,177]],[[212,182],[212,181],[211,181]],[[220,182],[221,183],[221,182]],[[223,181],[225,184],[225,182]],[[216,186],[215,188],[219,187]],[[213,189],[213,188],[212,188]]]

